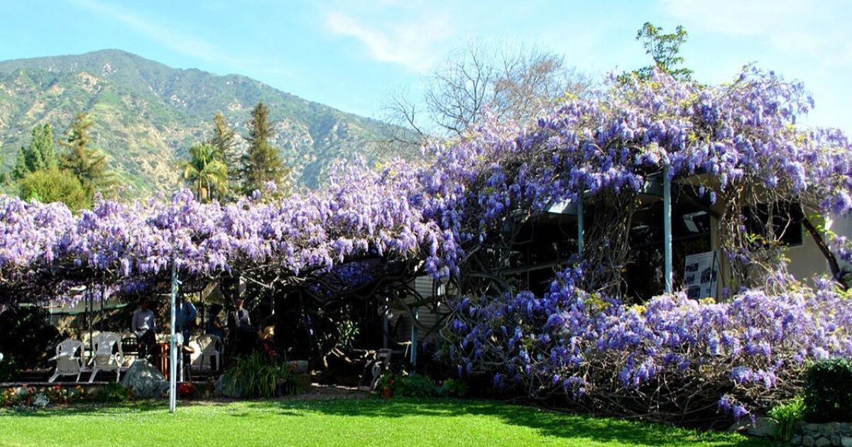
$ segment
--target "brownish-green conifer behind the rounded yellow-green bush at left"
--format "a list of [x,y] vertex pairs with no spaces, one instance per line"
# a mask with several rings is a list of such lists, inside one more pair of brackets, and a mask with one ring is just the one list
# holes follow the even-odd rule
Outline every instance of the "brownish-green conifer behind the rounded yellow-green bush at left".
[[76,176],[83,189],[91,198],[95,192],[105,191],[113,184],[112,173],[107,167],[107,157],[91,145],[89,129],[92,122],[80,112],[68,127],[67,138],[62,143],[67,152],[61,154],[62,169],[68,169]]

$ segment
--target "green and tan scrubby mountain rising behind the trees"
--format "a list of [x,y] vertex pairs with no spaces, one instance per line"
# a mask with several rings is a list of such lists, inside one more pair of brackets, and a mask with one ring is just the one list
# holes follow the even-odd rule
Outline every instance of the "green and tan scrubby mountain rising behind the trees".
[[82,111],[124,184],[140,194],[167,192],[181,185],[177,161],[210,136],[213,115],[222,112],[245,135],[258,101],[269,107],[273,144],[305,186],[316,186],[334,158],[371,158],[386,126],[249,77],[176,69],[107,49],[0,62],[0,160],[9,169],[37,123],[50,123],[58,140]]

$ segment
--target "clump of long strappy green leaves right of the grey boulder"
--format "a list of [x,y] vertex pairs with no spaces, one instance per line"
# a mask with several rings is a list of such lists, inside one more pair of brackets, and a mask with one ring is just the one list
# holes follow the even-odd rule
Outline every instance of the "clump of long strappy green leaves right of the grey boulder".
[[286,361],[268,358],[252,352],[244,358],[234,358],[225,370],[224,386],[229,394],[242,398],[272,398],[279,382],[291,381]]

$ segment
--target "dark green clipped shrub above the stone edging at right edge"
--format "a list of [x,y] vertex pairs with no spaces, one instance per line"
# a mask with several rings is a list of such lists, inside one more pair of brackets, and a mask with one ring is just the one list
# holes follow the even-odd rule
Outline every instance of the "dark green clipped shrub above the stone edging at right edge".
[[810,365],[805,373],[804,418],[852,421],[852,361],[838,358]]

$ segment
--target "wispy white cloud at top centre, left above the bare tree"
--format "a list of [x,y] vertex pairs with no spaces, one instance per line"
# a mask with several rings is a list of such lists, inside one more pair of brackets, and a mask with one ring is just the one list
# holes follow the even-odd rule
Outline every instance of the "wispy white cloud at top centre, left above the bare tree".
[[434,3],[388,0],[349,10],[338,5],[325,12],[325,26],[360,42],[375,60],[422,72],[435,63],[455,35],[450,15]]

